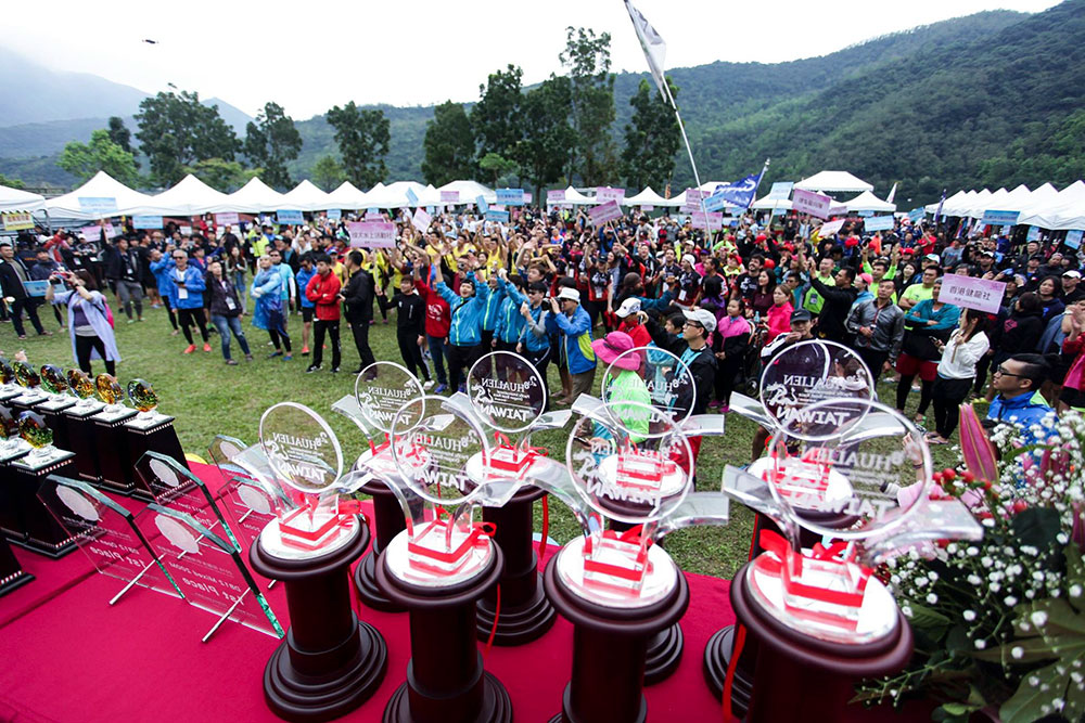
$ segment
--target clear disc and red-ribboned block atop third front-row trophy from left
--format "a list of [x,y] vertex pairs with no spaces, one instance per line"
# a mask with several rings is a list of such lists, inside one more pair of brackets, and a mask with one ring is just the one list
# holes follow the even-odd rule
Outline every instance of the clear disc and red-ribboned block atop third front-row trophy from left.
[[[587,514],[585,537],[560,553],[562,582],[611,607],[669,595],[678,569],[653,543],[668,518],[681,514],[693,479],[693,454],[672,412],[627,399],[604,403],[573,426],[565,467]],[[608,520],[631,527],[607,529]]]

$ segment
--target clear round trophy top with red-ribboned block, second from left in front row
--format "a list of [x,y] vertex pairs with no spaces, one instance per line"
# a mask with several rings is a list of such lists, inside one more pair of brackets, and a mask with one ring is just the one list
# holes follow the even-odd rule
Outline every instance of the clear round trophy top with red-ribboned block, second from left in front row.
[[404,404],[391,440],[399,474],[387,482],[407,529],[386,548],[388,569],[424,586],[451,585],[480,573],[493,546],[475,512],[503,505],[522,482],[487,477],[486,432],[473,414],[444,397]]

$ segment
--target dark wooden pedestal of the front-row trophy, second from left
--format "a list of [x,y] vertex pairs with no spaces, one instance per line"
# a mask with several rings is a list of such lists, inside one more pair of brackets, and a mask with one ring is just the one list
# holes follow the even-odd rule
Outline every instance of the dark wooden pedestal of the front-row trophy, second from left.
[[446,588],[400,580],[378,561],[378,584],[410,615],[411,658],[407,682],[384,709],[384,723],[511,723],[512,701],[500,681],[483,668],[475,634],[475,604],[501,577],[505,559],[493,545],[489,561],[474,577]]

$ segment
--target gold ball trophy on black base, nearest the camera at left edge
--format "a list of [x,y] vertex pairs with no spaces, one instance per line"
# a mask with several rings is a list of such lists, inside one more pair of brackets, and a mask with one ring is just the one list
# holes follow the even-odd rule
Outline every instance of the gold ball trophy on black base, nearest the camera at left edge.
[[75,455],[53,447],[53,432],[37,412],[18,415],[18,434],[31,450],[8,466],[11,474],[7,485],[26,533],[23,540],[12,542],[49,557],[62,557],[75,550],[75,542],[46,512],[37,492],[48,475],[69,474],[75,468]]

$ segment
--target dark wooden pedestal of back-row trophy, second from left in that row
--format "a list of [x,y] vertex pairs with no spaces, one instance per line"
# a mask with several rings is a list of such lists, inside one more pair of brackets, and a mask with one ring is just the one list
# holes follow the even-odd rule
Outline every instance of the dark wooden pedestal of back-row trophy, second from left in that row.
[[[546,493],[525,487],[503,507],[483,508],[482,518],[494,524],[494,542],[505,555],[505,572],[497,586],[478,601],[478,637],[488,640],[497,618],[496,645],[523,645],[553,627],[558,615],[542,594],[539,558],[532,540],[533,505]],[[500,591],[500,609],[497,607]]]

